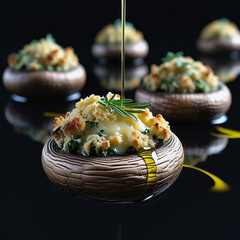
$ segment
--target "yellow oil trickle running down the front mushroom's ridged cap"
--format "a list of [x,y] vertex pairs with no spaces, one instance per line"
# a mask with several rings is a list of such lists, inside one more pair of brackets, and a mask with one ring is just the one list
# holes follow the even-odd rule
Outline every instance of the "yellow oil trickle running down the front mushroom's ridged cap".
[[154,149],[142,149],[138,152],[138,156],[142,157],[147,166],[147,187],[155,186],[157,182],[157,154]]

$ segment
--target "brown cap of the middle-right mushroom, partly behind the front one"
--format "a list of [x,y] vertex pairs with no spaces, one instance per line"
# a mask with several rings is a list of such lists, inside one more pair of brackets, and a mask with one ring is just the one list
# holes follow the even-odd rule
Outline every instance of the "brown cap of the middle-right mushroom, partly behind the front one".
[[226,113],[232,96],[228,87],[220,83],[220,89],[210,93],[161,93],[143,88],[135,93],[137,102],[151,103],[154,114],[161,113],[169,121],[210,121]]

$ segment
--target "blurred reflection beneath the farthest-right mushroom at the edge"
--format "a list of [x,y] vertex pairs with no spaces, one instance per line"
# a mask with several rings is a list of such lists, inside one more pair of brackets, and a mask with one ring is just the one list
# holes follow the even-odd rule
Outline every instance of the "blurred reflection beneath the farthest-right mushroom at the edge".
[[217,57],[201,56],[201,61],[209,65],[219,80],[223,83],[234,81],[240,74],[240,60],[239,59],[225,59]]

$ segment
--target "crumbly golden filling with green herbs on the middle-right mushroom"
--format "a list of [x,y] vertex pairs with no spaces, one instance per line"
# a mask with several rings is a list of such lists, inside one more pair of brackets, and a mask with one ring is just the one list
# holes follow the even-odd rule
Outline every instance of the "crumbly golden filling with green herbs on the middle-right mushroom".
[[219,80],[209,66],[182,52],[168,52],[160,66],[152,65],[151,72],[143,80],[148,91],[168,93],[207,93],[219,89]]

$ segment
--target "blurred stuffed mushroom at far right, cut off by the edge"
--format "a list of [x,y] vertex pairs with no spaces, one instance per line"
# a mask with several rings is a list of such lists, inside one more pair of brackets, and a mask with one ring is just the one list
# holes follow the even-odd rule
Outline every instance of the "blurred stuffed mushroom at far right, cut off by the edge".
[[240,51],[240,32],[237,25],[226,18],[209,23],[197,40],[197,48],[205,54]]

